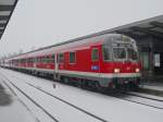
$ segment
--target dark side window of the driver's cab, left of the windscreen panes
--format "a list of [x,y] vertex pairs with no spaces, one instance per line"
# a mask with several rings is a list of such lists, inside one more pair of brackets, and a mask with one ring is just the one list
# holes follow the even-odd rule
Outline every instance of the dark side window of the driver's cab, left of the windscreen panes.
[[105,61],[111,60],[110,48],[108,46],[102,47],[102,54],[103,54],[103,60]]

